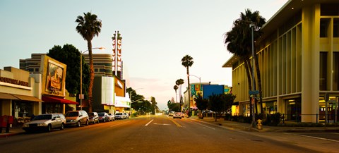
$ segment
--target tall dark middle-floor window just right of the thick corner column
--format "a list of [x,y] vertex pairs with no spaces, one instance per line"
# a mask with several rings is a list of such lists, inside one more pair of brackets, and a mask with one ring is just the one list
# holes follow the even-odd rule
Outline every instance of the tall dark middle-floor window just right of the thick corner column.
[[319,90],[327,90],[327,52],[320,52]]

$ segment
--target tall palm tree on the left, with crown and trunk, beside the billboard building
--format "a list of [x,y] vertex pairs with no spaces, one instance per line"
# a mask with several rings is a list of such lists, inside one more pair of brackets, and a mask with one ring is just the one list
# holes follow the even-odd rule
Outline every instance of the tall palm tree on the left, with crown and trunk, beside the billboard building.
[[87,41],[88,55],[90,56],[90,85],[88,87],[88,111],[92,112],[92,90],[94,80],[94,68],[93,68],[93,55],[92,55],[92,39],[98,36],[101,31],[101,20],[97,18],[97,15],[90,12],[83,13],[83,16],[76,18],[76,31]]

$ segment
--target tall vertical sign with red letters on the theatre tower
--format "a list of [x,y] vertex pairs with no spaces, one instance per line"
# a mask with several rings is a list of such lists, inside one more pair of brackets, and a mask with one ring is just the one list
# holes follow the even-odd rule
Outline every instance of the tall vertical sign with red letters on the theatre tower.
[[[122,73],[122,58],[121,58],[121,35],[119,31],[116,31],[115,34],[112,37],[113,40],[113,68],[112,71],[114,71],[114,75],[119,76],[121,78]],[[119,73],[118,73],[119,72]]]

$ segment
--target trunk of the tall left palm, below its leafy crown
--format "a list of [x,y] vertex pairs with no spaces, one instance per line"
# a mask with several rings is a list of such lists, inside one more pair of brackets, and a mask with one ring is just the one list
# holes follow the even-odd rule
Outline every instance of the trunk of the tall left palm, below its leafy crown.
[[90,85],[88,87],[88,112],[92,112],[93,107],[93,82],[94,82],[94,68],[93,68],[93,54],[92,54],[92,42],[90,40],[87,41],[88,45],[88,56],[90,56]]

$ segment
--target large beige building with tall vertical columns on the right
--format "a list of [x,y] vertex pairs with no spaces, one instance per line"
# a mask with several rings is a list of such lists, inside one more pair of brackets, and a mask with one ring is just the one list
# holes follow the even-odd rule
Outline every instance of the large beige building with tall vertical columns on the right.
[[[287,1],[261,30],[255,45],[263,92],[261,113],[279,112],[289,121],[338,121],[339,1]],[[222,67],[232,68],[239,114],[248,115],[244,62],[232,56]]]

